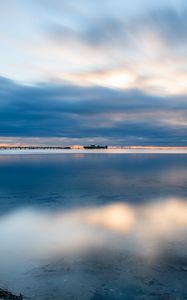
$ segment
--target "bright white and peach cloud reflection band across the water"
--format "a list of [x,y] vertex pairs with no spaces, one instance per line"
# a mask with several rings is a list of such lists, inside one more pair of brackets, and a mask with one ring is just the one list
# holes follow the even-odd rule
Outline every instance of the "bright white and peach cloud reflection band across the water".
[[133,243],[133,252],[158,255],[166,241],[185,241],[186,229],[187,202],[179,199],[138,206],[114,203],[61,213],[27,209],[0,219],[1,254],[4,251],[7,256],[8,250],[11,256],[21,253],[21,258],[56,257],[98,246],[129,250]]

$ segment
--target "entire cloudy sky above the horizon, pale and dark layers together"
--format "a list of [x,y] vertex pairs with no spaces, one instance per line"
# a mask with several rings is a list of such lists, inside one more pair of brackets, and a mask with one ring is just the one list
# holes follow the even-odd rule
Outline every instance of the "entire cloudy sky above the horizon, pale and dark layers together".
[[0,144],[187,145],[186,0],[0,0]]

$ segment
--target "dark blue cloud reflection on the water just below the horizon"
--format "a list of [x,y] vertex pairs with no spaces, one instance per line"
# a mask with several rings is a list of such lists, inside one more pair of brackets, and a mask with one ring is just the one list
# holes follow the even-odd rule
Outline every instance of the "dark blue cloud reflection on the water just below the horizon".
[[186,155],[23,155],[0,162],[0,213],[187,197]]

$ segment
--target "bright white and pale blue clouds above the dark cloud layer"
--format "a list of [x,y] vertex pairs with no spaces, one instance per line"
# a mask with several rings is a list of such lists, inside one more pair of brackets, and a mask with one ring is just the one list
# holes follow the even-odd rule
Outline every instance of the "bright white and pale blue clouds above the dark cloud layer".
[[[3,15],[9,15],[3,7]],[[2,18],[3,76],[160,96],[187,94],[185,1],[41,0],[15,7],[15,26]],[[25,30],[18,18],[26,19]]]

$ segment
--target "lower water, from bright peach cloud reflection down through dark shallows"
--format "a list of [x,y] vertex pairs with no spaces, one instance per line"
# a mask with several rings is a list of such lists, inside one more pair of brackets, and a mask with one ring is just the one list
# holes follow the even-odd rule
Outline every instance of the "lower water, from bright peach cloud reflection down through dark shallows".
[[182,199],[17,211],[0,218],[0,245],[1,284],[31,299],[165,299],[187,292]]

